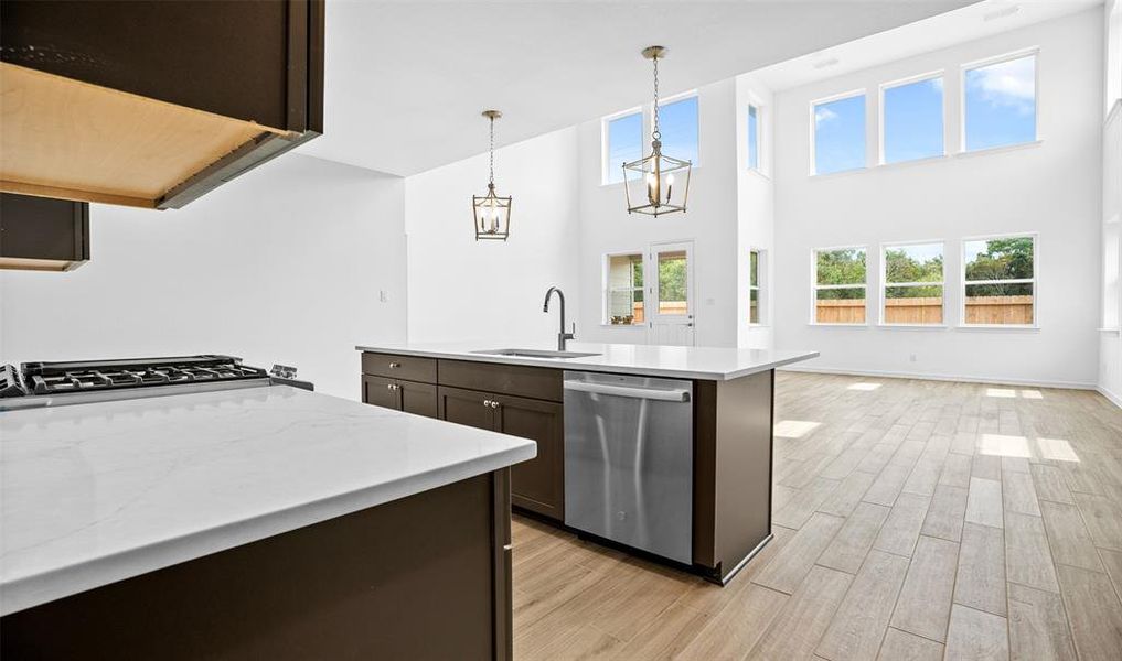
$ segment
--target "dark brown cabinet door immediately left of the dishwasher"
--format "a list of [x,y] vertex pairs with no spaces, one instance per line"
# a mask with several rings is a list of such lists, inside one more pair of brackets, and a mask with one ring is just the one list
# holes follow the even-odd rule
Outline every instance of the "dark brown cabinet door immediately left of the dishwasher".
[[515,505],[564,520],[564,408],[521,397],[499,395],[498,430],[537,443],[537,456],[511,467]]

